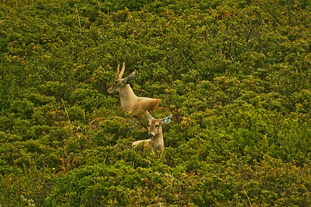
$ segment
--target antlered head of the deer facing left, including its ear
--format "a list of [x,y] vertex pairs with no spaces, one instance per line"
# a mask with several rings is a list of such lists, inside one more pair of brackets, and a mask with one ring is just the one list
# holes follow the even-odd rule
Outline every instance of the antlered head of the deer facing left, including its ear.
[[115,95],[118,92],[120,92],[120,90],[124,88],[124,86],[126,86],[127,81],[133,79],[133,77],[135,77],[136,75],[136,71],[134,71],[130,75],[122,78],[122,76],[124,75],[124,70],[125,70],[125,62],[123,62],[122,70],[120,73],[119,73],[119,70],[120,70],[120,65],[117,66],[117,75],[115,76],[115,81],[113,81],[113,86],[111,86],[111,88],[107,90],[109,94]]

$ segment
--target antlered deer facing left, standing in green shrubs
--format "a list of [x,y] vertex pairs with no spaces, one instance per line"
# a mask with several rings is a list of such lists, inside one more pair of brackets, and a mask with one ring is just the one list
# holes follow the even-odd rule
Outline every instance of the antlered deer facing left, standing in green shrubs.
[[109,94],[116,95],[119,93],[121,107],[123,110],[129,113],[133,117],[142,117],[146,110],[155,110],[159,108],[158,104],[162,101],[161,99],[152,99],[147,97],[138,97],[133,92],[130,84],[128,83],[136,75],[134,70],[128,76],[123,77],[125,70],[125,62],[123,62],[122,70],[119,73],[120,65],[117,66],[117,75],[115,76],[115,81],[113,86],[107,90]]

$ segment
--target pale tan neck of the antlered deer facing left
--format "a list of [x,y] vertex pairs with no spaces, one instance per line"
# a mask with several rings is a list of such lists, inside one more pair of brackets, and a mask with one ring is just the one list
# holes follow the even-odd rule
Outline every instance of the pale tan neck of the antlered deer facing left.
[[121,107],[127,112],[133,111],[135,104],[138,101],[138,97],[133,92],[131,86],[126,84],[119,92]]

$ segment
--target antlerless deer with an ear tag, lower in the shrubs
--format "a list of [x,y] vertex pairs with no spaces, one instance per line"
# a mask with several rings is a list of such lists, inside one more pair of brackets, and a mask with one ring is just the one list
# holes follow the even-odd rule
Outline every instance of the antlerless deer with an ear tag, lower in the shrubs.
[[172,115],[169,115],[162,119],[155,119],[150,115],[148,110],[146,110],[146,115],[147,119],[149,120],[148,137],[150,139],[134,141],[132,146],[135,147],[140,144],[143,144],[144,149],[151,148],[151,151],[153,152],[153,154],[155,154],[157,151],[164,150],[162,124],[169,123],[171,121]]

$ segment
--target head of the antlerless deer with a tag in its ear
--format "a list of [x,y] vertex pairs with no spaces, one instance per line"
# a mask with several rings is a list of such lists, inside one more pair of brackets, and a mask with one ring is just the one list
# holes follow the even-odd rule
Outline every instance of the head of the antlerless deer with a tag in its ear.
[[162,124],[169,123],[171,121],[172,115],[162,119],[155,119],[149,114],[148,110],[146,110],[146,115],[149,120],[149,138],[152,139],[153,137],[162,137]]

